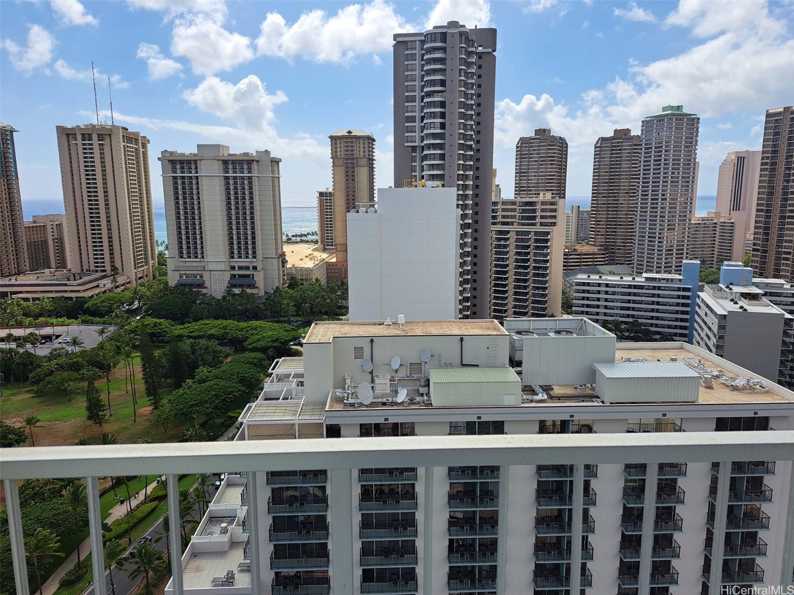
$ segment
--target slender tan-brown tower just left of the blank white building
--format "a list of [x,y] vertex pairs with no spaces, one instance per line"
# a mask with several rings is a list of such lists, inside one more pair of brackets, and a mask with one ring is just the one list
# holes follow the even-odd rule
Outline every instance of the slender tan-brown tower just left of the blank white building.
[[331,278],[347,278],[347,213],[375,202],[375,136],[364,130],[338,130],[331,141],[333,247]]

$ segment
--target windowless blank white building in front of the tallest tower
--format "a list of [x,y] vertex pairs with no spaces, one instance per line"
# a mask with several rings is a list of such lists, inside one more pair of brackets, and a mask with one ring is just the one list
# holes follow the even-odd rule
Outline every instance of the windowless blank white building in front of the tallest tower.
[[459,317],[460,215],[452,188],[380,188],[348,213],[350,320]]

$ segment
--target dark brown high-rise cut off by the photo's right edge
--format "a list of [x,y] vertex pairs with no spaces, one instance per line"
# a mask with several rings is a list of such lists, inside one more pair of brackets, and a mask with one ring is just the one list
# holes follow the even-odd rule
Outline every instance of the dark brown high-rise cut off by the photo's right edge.
[[794,279],[794,106],[766,110],[753,234],[754,271]]

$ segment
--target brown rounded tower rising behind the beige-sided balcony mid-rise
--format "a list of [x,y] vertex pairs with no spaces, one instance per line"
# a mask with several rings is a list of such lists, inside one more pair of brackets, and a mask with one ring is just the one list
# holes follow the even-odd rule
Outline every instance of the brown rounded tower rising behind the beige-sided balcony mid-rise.
[[522,136],[515,144],[516,198],[538,198],[550,192],[554,200],[565,200],[568,174],[568,141],[539,128],[534,136]]

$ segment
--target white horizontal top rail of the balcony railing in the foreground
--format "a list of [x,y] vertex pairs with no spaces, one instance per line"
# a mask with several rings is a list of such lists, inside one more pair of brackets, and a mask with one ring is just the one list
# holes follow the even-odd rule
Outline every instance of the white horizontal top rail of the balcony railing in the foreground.
[[673,460],[792,460],[794,431],[416,436],[220,443],[3,448],[0,479],[80,478],[153,473],[472,466],[664,463]]

